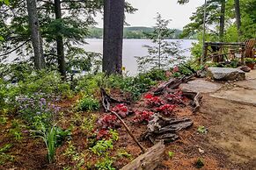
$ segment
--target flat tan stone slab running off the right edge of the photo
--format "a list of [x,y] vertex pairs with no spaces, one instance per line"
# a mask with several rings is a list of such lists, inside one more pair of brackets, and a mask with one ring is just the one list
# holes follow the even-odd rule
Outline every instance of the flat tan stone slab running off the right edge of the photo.
[[221,90],[210,96],[238,103],[249,103],[256,106],[256,90],[252,89],[235,88],[231,90]]

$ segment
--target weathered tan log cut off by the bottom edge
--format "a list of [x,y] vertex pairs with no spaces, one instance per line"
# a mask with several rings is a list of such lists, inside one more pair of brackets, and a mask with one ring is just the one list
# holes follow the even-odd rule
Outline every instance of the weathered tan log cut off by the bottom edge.
[[153,170],[159,165],[163,160],[163,155],[165,154],[165,145],[163,141],[158,142],[148,149],[147,152],[140,155],[128,165],[121,168],[121,170]]

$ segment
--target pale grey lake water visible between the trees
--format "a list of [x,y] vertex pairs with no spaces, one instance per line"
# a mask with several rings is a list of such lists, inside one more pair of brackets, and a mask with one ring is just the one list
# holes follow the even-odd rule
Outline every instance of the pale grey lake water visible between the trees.
[[[177,40],[168,40],[170,42]],[[192,39],[182,39],[179,40],[182,50],[185,50],[183,56],[190,57],[190,48],[192,43],[196,40]],[[86,39],[88,45],[84,45],[84,49],[88,52],[103,52],[103,40],[102,39]],[[145,56],[148,54],[147,48],[144,48],[144,45],[153,45],[150,39],[124,39],[123,40],[123,66],[126,67],[128,74],[135,75],[137,74],[137,62],[135,56]]]

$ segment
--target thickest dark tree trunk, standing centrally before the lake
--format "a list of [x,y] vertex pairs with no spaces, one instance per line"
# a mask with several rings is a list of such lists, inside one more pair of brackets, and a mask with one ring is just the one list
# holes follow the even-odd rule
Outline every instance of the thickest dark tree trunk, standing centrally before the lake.
[[125,0],[104,0],[103,72],[121,74]]

